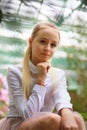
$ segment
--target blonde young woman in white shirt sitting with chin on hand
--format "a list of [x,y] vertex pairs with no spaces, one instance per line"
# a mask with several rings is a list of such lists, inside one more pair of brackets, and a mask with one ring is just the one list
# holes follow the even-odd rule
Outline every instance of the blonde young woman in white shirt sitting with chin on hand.
[[59,41],[54,24],[34,27],[23,66],[8,68],[9,111],[0,130],[85,130],[81,115],[73,112],[64,71],[50,65]]

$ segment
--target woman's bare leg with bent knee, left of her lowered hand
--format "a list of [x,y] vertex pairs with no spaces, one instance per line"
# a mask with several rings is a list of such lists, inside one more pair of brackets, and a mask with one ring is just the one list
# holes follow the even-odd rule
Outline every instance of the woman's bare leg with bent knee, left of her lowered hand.
[[49,113],[24,121],[18,130],[60,130],[61,117]]

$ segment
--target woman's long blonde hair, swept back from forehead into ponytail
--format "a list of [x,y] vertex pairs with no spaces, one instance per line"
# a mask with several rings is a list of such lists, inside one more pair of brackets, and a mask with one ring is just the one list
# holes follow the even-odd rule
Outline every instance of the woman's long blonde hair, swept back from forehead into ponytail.
[[[53,24],[53,23],[49,23],[49,22],[41,22],[39,24],[37,24],[32,31],[31,37],[32,39],[34,39],[37,36],[37,33],[39,30],[44,29],[46,27],[50,27],[50,28],[54,28],[57,32],[58,32],[58,36],[60,39],[60,33],[57,29],[57,27]],[[30,90],[30,85],[31,85],[31,75],[30,75],[30,68],[29,68],[29,60],[31,57],[31,48],[28,44],[25,55],[24,55],[24,59],[23,59],[23,69],[22,69],[22,88],[23,88],[23,93],[24,96],[28,99],[30,94],[31,94],[31,90]]]

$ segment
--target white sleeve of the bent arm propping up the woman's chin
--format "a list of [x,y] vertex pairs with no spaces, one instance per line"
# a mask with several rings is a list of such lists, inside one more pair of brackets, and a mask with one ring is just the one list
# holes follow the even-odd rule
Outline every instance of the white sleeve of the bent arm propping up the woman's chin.
[[7,81],[9,86],[9,95],[15,104],[19,115],[23,119],[31,118],[33,113],[39,112],[44,104],[46,88],[35,84],[32,95],[25,100],[22,92],[21,78],[16,69],[8,68]]

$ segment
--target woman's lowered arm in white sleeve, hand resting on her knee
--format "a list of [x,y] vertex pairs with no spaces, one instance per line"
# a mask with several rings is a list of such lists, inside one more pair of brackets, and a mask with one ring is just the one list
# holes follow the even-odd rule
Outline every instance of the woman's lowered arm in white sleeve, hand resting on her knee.
[[57,112],[62,117],[61,130],[77,130],[78,125],[73,115],[72,104],[70,102],[71,98],[67,91],[65,74],[62,70],[58,74],[58,86],[53,94]]

